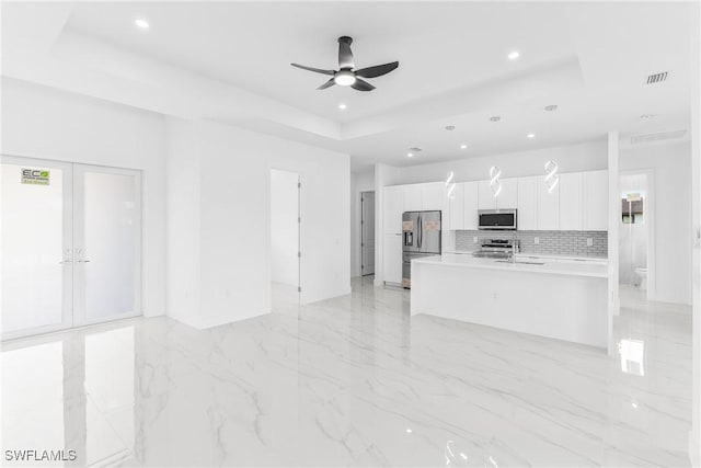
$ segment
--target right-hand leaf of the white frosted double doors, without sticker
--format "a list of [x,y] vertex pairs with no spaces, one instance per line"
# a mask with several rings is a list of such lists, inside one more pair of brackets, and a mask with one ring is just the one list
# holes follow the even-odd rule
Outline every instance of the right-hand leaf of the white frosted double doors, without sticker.
[[76,164],[74,324],[141,311],[140,172]]

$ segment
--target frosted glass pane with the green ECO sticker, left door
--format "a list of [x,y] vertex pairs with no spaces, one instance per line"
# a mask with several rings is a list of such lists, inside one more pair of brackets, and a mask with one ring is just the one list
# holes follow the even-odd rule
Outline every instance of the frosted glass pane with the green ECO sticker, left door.
[[[38,172],[23,178],[23,170]],[[0,164],[2,331],[62,321],[64,172]],[[32,183],[35,182],[35,183]]]

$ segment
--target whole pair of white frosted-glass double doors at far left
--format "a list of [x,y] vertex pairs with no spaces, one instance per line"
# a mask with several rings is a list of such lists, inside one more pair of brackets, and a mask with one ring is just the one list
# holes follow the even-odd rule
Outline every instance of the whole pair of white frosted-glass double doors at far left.
[[139,171],[2,157],[2,340],[141,313]]

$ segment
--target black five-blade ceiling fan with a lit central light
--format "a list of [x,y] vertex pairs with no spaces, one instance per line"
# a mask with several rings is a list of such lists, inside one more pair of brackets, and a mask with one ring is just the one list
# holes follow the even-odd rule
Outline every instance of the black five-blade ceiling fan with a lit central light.
[[392,61],[384,65],[376,65],[374,67],[360,68],[355,70],[355,62],[353,61],[353,52],[350,52],[350,44],[353,44],[353,37],[341,36],[338,37],[338,70],[322,70],[320,68],[306,67],[299,64],[290,64],[292,67],[301,68],[302,70],[315,71],[317,73],[331,75],[332,78],[317,88],[318,90],[325,90],[334,84],[340,87],[350,87],[358,91],[372,91],[375,87],[360,78],[377,78],[382,75],[387,75],[390,71],[399,67],[399,61]]

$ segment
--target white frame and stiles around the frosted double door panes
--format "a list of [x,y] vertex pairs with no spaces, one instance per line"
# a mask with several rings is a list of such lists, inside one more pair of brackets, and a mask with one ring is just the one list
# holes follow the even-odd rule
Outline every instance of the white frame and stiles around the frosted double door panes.
[[[61,260],[66,261],[66,256],[70,255],[72,261],[67,262],[64,266],[64,298],[62,298],[62,313],[61,313],[61,323],[48,324],[48,326],[39,326],[33,327],[28,329],[22,329],[11,332],[2,332],[0,336],[0,341],[10,341],[21,338],[41,335],[46,333],[53,333],[57,331],[65,331],[77,329],[81,327],[87,327],[96,323],[106,323],[115,320],[122,320],[127,318],[139,317],[143,315],[142,305],[143,305],[143,287],[142,287],[142,277],[143,277],[143,261],[142,261],[142,252],[143,252],[143,186],[142,186],[142,171],[140,169],[129,169],[129,168],[117,168],[113,165],[106,164],[87,164],[82,162],[74,161],[62,161],[56,159],[47,159],[47,158],[32,158],[25,156],[16,156],[16,155],[7,155],[0,153],[0,164],[10,163],[10,164],[26,164],[26,165],[35,165],[35,167],[56,167],[61,168],[64,170],[64,251],[61,252]],[[129,174],[135,176],[136,181],[136,194],[135,194],[135,221],[137,222],[136,232],[138,232],[138,240],[136,242],[136,259],[135,259],[135,307],[134,312],[123,313],[118,316],[112,316],[105,319],[97,320],[76,320],[76,289],[82,285],[77,285],[76,282],[76,253],[73,242],[76,240],[76,225],[77,225],[77,216],[74,213],[74,207],[77,204],[76,199],[76,168],[91,168],[101,172],[106,173],[122,173]],[[82,185],[81,185],[82,186]],[[84,187],[83,187],[84,189]],[[1,237],[1,236],[0,236]],[[67,253],[66,249],[70,249]]]

